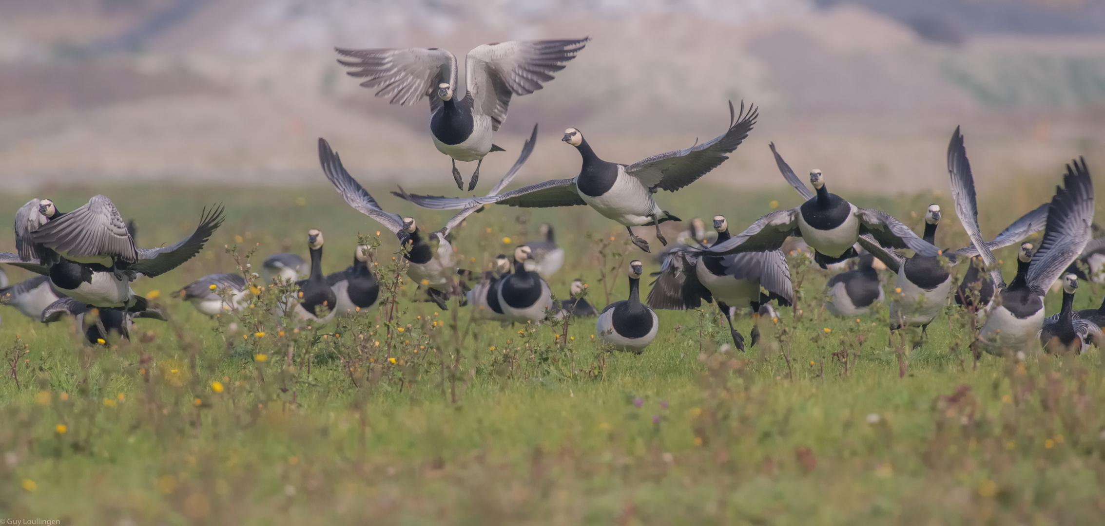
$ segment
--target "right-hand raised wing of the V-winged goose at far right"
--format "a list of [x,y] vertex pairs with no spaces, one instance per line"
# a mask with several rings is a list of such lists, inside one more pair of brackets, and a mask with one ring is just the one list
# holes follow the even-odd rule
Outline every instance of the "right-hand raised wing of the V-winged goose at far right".
[[[1081,160],[1081,164],[1080,164]],[[1063,188],[1055,188],[1055,196],[1048,208],[1048,227],[1044,228],[1040,248],[1029,263],[1028,285],[1043,295],[1059,275],[1074,261],[1093,235],[1090,224],[1094,219],[1094,182],[1085,159],[1066,165]]]

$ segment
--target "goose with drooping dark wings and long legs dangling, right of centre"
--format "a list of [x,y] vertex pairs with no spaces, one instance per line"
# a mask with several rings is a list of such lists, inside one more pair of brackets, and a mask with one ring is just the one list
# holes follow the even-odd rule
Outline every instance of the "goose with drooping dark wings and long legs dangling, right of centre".
[[[714,230],[717,231],[715,244],[729,239],[725,215],[714,215]],[[745,337],[733,327],[733,309],[751,307],[753,313],[758,313],[759,306],[771,299],[790,305],[793,297],[787,257],[778,249],[727,256],[692,255],[680,250],[664,260],[648,302],[653,308],[684,311],[698,308],[703,299],[716,301],[717,308],[729,323],[733,344],[745,350]],[[754,334],[753,345],[757,339]]]

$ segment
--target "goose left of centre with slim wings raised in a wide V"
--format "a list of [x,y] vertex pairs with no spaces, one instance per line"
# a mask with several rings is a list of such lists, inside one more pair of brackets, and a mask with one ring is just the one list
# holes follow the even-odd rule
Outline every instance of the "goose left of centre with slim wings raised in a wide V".
[[[537,126],[535,125],[534,132],[522,148],[518,160],[503,176],[503,180],[498,185],[495,185],[490,196],[497,193],[514,179],[514,176],[525,165],[526,159],[529,158],[529,154],[534,151],[536,143]],[[430,238],[436,238],[439,241],[438,252],[434,255],[430,244],[422,239],[421,232],[415,227],[414,219],[400,218],[393,213],[385,212],[376,202],[376,199],[372,199],[372,196],[346,171],[345,167],[341,166],[341,158],[330,149],[330,145],[323,138],[318,139],[318,159],[323,165],[323,172],[326,173],[326,178],[329,179],[334,188],[350,207],[376,220],[394,233],[399,238],[400,244],[410,244],[409,252],[403,255],[410,263],[407,275],[411,280],[414,280],[414,283],[419,283],[420,286],[425,287],[431,301],[442,309],[448,309],[449,307],[445,302],[450,297],[463,297],[464,291],[456,282],[456,265],[453,264],[453,248],[449,242],[449,233],[470,214],[483,208],[483,204],[476,203],[474,206],[461,207],[464,210],[453,215],[445,223],[445,227],[440,231],[430,233]],[[400,190],[402,189],[400,188]]]

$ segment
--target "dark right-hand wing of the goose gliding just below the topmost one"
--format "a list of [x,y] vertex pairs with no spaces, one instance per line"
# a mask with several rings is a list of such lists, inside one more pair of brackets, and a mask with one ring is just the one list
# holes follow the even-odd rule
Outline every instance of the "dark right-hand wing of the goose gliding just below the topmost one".
[[648,159],[625,167],[625,172],[638,178],[650,189],[659,188],[674,192],[705,176],[717,168],[748,137],[756,117],[759,116],[755,106],[740,103],[740,113],[735,114],[733,103],[729,103],[729,129],[713,140],[695,145],[682,150],[654,155]]

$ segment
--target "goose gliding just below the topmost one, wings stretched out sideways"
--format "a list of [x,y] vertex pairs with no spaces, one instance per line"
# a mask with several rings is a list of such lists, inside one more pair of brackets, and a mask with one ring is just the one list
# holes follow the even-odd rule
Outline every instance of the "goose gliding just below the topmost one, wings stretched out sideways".
[[[591,150],[576,128],[568,128],[561,140],[579,150],[583,162],[579,175],[571,179],[554,179],[512,190],[502,194],[475,198],[445,198],[392,192],[422,208],[451,210],[481,204],[507,204],[522,208],[571,207],[587,204],[602,215],[618,221],[629,231],[630,240],[649,252],[649,243],[633,234],[631,227],[655,225],[656,238],[667,244],[660,223],[680,221],[662,210],[652,198],[660,190],[675,191],[694,181],[728,159],[727,154],[748,136],[758,113],[749,107],[736,114],[729,103],[729,128],[725,135],[682,150],[660,154],[632,165],[608,162]],[[738,118],[739,117],[739,118]]]

